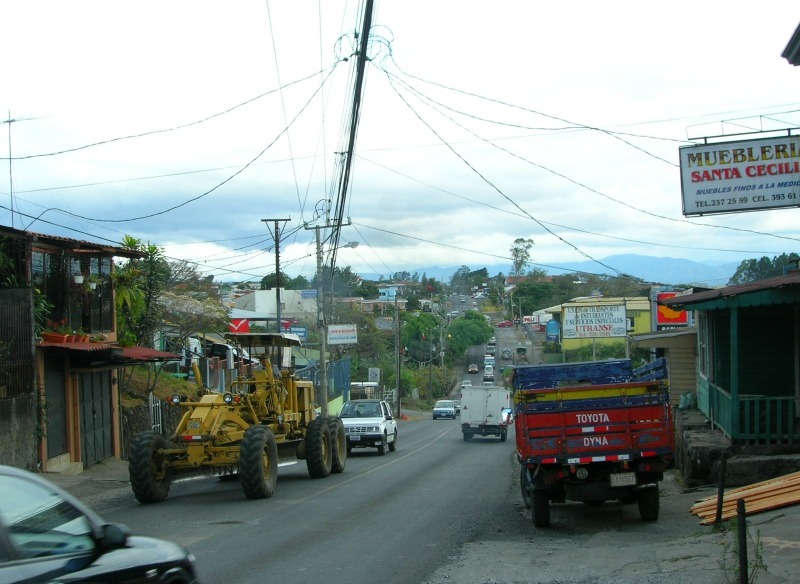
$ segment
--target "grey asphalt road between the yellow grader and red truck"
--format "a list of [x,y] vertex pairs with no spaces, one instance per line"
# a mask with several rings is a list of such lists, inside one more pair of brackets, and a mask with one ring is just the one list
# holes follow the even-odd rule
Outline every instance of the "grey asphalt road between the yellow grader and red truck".
[[356,450],[345,472],[308,478],[281,467],[270,499],[236,481],[173,484],[167,501],[132,495],[101,510],[134,532],[183,543],[203,582],[421,582],[463,544],[494,529],[512,490],[511,442],[465,443],[457,421],[402,421],[398,449]]

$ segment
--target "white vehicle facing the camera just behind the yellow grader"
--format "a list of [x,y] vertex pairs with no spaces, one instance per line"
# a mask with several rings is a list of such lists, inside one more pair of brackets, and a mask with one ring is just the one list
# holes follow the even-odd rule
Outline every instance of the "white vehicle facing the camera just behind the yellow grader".
[[342,404],[339,414],[347,437],[347,452],[353,448],[397,449],[397,421],[389,403],[378,399],[353,399]]

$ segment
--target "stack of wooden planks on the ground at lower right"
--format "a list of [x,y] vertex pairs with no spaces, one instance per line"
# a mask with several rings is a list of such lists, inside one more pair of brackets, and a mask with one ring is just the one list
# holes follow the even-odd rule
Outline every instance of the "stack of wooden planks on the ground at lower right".
[[[800,472],[726,491],[722,503],[723,521],[736,515],[739,499],[744,499],[746,515],[800,503]],[[700,525],[712,525],[717,516],[717,496],[697,501],[690,513],[700,517]]]

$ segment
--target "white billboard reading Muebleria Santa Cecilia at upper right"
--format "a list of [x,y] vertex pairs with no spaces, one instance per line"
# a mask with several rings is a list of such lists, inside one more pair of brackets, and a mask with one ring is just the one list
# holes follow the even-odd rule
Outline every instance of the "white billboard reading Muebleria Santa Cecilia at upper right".
[[800,205],[800,137],[680,148],[683,214],[711,215]]

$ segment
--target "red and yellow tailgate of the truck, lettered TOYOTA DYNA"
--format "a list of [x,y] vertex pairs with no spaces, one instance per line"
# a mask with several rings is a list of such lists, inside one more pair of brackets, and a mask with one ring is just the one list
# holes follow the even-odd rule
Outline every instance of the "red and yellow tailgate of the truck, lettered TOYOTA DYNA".
[[653,382],[517,392],[517,452],[528,463],[631,460],[672,452],[669,394]]

